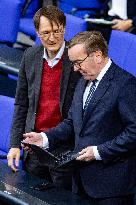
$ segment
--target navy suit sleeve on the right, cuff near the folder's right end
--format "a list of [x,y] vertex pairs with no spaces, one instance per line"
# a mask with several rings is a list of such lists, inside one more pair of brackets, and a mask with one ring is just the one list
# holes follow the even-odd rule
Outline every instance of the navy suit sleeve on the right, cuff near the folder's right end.
[[104,162],[118,160],[136,150],[136,80],[129,79],[118,96],[118,112],[122,121],[122,132],[113,140],[97,146]]

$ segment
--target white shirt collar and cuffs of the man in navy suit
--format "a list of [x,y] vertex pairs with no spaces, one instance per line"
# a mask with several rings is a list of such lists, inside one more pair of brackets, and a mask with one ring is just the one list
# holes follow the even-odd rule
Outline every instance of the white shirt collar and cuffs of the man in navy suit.
[[[111,61],[111,59],[109,59],[107,64],[104,66],[104,68],[101,70],[101,72],[97,76],[96,89],[97,89],[100,81],[102,80],[103,76],[105,75],[105,73],[107,72],[109,67],[111,66],[111,63],[112,63],[112,61]],[[87,99],[87,96],[89,94],[89,90],[90,90],[91,85],[92,85],[92,82],[89,82],[88,85],[86,86],[85,92],[83,94],[83,107],[84,107],[85,101]],[[49,148],[49,142],[48,142],[47,135],[44,132],[41,132],[41,135],[43,137],[43,147]],[[97,146],[93,146],[93,152],[94,152],[95,159],[101,160],[101,157],[100,157],[99,152],[97,150]]]

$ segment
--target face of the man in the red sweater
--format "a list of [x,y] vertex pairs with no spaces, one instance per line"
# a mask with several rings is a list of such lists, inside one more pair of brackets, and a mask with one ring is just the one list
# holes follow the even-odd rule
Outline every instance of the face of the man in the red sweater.
[[51,25],[48,18],[41,16],[38,36],[46,48],[49,57],[54,57],[64,42],[64,27],[53,22]]

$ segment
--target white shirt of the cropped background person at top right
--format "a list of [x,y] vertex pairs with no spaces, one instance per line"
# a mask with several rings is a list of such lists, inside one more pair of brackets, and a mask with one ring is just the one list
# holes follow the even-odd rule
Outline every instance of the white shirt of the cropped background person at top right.
[[119,16],[121,19],[128,19],[127,0],[112,0],[111,9],[108,11],[109,16]]

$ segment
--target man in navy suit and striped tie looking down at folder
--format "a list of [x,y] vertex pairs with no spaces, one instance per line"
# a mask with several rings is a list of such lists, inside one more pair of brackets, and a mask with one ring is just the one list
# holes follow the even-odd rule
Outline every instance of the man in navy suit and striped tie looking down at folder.
[[[68,55],[79,71],[68,118],[57,127],[26,133],[25,142],[50,150],[75,134],[79,157],[73,191],[98,205],[132,205],[136,188],[136,78],[107,56],[100,32],[75,36]],[[47,144],[43,143],[43,139]]]

